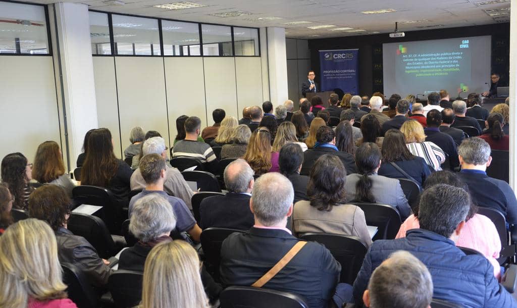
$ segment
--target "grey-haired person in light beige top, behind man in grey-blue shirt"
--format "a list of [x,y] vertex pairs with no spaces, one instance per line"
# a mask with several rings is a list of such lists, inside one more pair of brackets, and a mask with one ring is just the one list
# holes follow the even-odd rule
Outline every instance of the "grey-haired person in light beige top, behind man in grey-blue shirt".
[[[147,139],[142,146],[142,154],[147,155],[155,153],[160,155],[163,159],[167,158],[167,147],[165,140],[162,137],[152,137]],[[142,177],[140,168],[136,169],[131,175],[130,186],[131,190],[144,189],[147,183]],[[165,182],[163,183],[163,190],[173,196],[183,200],[189,209],[192,209],[192,196],[194,192],[190,189],[187,181],[181,175],[179,170],[168,165],[165,166]]]

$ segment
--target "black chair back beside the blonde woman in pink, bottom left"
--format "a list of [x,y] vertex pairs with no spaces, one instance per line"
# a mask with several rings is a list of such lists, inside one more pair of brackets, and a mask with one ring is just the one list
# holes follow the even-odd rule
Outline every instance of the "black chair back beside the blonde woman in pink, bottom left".
[[68,286],[68,298],[79,308],[98,307],[97,292],[90,285],[86,275],[73,264],[62,263],[61,267],[63,282]]

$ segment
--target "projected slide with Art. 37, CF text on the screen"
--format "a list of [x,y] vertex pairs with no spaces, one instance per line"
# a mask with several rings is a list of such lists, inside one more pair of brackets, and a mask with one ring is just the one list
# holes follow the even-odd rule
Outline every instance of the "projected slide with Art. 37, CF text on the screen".
[[490,88],[490,52],[490,36],[383,44],[384,94],[481,93]]

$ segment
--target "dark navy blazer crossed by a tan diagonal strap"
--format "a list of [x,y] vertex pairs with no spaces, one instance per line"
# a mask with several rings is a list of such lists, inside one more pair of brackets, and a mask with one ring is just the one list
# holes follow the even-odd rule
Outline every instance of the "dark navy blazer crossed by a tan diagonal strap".
[[[234,233],[221,247],[221,281],[224,285],[250,286],[299,240],[280,229],[252,227]],[[293,292],[311,308],[327,307],[339,281],[341,265],[322,244],[308,242],[264,288]]]

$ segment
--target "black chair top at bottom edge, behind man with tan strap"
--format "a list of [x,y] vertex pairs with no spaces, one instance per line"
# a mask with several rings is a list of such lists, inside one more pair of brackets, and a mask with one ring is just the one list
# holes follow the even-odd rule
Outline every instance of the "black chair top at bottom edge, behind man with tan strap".
[[228,287],[221,292],[219,300],[221,308],[309,308],[299,295],[255,287]]

